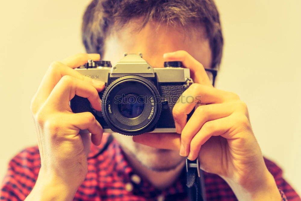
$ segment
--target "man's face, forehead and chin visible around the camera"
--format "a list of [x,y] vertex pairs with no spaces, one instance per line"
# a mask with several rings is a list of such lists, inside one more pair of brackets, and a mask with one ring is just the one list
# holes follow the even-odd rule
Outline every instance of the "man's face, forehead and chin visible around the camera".
[[[164,53],[185,50],[203,64],[204,68],[210,68],[211,50],[203,27],[184,33],[180,27],[173,28],[161,24],[157,29],[156,22],[149,22],[141,31],[137,31],[141,26],[139,23],[141,24],[139,20],[132,20],[123,29],[113,31],[106,40],[102,59],[115,64],[123,57],[123,53],[142,53],[144,60],[152,67],[163,68]],[[126,154],[134,156],[142,165],[152,170],[174,169],[184,159],[179,155],[179,151],[156,149],[135,143],[132,136],[115,133],[114,137]]]

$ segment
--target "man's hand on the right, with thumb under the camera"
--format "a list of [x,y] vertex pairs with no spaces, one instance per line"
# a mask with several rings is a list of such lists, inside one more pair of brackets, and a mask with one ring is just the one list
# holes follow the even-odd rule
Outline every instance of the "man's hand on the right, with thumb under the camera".
[[224,178],[239,199],[281,200],[253,134],[247,105],[235,93],[214,88],[203,65],[187,52],[167,53],[164,58],[182,61],[194,80],[173,108],[176,132],[181,135],[145,133],[134,141],[180,150],[190,160],[198,157],[200,167]]

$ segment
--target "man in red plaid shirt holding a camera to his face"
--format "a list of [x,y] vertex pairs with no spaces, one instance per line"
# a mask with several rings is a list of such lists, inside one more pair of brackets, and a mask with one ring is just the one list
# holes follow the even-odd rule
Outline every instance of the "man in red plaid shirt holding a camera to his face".
[[[247,106],[215,89],[206,74],[219,65],[223,44],[211,0],[94,0],[84,16],[83,42],[92,54],[54,62],[46,72],[31,104],[39,149],[12,159],[2,200],[186,200],[185,156],[200,160],[208,200],[300,199],[281,170],[263,159]],[[75,95],[101,111],[104,89],[72,68],[100,57],[114,64],[123,52],[142,52],[154,68],[182,61],[190,69],[194,84],[182,96],[201,96],[202,105],[189,121],[196,104],[175,105],[177,133],[114,133],[106,143],[110,137],[91,113],[72,112]]]

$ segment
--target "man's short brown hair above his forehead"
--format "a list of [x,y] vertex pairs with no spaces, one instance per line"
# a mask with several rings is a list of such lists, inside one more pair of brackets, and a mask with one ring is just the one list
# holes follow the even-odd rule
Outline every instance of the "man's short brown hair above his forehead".
[[[222,58],[223,36],[219,12],[213,0],[93,0],[83,16],[82,41],[88,53],[104,54],[104,44],[113,26],[142,17],[141,29],[151,20],[180,25],[184,30],[197,24],[206,28],[212,51],[212,67]],[[115,27],[116,28],[116,27]]]

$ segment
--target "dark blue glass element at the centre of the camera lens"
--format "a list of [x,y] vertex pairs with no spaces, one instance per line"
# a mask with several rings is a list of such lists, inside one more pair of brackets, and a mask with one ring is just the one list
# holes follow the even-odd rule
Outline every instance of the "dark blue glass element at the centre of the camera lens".
[[119,104],[120,113],[127,118],[135,118],[141,115],[144,108],[143,98],[136,94],[123,96]]

